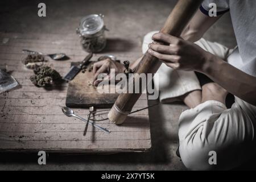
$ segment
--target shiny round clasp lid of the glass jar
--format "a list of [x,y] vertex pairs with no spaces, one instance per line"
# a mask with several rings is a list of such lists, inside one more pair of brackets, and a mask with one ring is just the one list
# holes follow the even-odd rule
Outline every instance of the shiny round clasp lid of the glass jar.
[[81,35],[93,35],[102,30],[104,27],[104,16],[92,14],[85,16],[80,21],[80,27],[77,28],[77,33]]

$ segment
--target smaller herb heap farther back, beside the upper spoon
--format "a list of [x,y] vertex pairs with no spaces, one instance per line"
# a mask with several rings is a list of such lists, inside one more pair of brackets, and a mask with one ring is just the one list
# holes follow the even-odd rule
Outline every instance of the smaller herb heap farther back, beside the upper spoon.
[[43,65],[44,62],[47,62],[43,55],[38,53],[35,54],[28,54],[27,57],[24,59],[24,65],[27,68],[35,69]]

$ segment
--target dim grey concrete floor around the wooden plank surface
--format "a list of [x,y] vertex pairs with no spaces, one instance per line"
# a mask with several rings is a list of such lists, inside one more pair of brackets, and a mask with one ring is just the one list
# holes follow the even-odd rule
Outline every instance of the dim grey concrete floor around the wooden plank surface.
[[[47,5],[47,17],[37,16],[38,3]],[[137,34],[139,40],[148,31],[158,30],[176,1],[14,1],[0,2],[1,32],[59,32],[73,34],[82,16],[102,13],[109,34]],[[123,31],[126,28],[126,31]],[[234,47],[230,16],[224,15],[204,36],[208,40]],[[150,101],[150,104],[156,101]],[[37,154],[0,154],[0,169],[57,169],[57,170],[183,170],[177,149],[177,120],[186,107],[164,104],[149,110],[152,150],[146,153],[112,155],[49,154],[47,165],[39,166]]]

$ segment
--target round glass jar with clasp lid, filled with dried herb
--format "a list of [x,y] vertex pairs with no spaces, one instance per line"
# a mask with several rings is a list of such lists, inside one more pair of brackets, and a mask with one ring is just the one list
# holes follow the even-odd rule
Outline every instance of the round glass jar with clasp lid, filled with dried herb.
[[103,15],[92,14],[80,21],[79,34],[82,48],[87,52],[100,52],[106,46],[105,25]]

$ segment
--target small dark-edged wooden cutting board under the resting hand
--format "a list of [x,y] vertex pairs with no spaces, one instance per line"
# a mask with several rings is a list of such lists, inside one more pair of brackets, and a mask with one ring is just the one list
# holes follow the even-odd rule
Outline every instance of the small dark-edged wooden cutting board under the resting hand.
[[[79,63],[72,63],[77,65]],[[90,62],[92,64],[92,62]],[[69,81],[66,98],[67,107],[110,108],[118,97],[118,93],[99,93],[92,85],[93,72],[89,72],[88,65],[85,72],[80,71],[73,80]],[[114,86],[114,85],[110,85]]]

